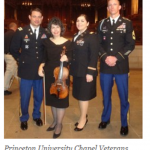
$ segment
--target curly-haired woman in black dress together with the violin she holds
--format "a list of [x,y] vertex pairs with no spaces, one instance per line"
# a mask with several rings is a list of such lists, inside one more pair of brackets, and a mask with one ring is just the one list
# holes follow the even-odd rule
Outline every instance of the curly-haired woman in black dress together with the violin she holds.
[[39,75],[45,74],[46,105],[51,106],[53,115],[53,122],[47,131],[54,130],[53,138],[57,138],[61,134],[65,109],[69,106],[69,95],[63,93],[69,88],[67,65],[72,54],[71,42],[62,37],[65,28],[59,18],[53,17],[47,29],[50,38],[44,41],[45,56],[39,66]]

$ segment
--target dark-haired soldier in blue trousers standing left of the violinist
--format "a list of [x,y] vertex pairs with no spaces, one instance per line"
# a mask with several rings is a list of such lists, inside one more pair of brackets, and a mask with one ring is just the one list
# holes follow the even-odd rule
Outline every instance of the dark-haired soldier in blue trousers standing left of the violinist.
[[43,82],[42,78],[38,75],[38,67],[42,62],[44,54],[42,41],[47,38],[47,36],[45,29],[40,27],[43,16],[39,8],[31,10],[29,20],[30,25],[24,28],[18,28],[14,34],[10,47],[11,54],[18,61],[18,76],[21,78],[20,121],[22,130],[27,130],[28,128],[28,107],[32,89],[34,98],[33,120],[36,122],[36,125],[43,125],[40,119],[40,106],[43,99]]

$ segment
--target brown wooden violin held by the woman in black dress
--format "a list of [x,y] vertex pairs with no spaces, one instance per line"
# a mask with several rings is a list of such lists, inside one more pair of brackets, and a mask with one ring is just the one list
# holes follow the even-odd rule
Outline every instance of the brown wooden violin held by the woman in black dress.
[[[63,47],[62,55],[66,52],[66,47]],[[69,70],[63,67],[63,62],[60,62],[60,66],[54,69],[55,82],[51,84],[50,94],[55,95],[58,99],[64,99],[68,96],[69,90],[66,85],[66,79],[68,79]]]

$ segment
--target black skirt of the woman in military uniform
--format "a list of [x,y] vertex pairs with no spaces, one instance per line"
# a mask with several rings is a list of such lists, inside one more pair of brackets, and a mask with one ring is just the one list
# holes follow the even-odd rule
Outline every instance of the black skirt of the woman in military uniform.
[[86,77],[73,76],[73,97],[80,101],[89,101],[96,97],[96,77],[86,82]]

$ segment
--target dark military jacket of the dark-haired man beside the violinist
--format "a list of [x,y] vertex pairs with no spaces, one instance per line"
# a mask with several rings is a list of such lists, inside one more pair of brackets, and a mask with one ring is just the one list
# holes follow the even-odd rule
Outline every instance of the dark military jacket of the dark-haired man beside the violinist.
[[13,36],[10,52],[18,61],[18,76],[27,80],[37,80],[38,68],[44,55],[43,40],[47,38],[45,29],[39,28],[39,35],[33,33],[30,25],[18,28]]

